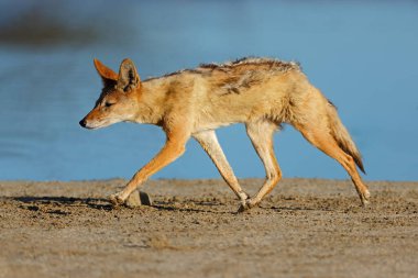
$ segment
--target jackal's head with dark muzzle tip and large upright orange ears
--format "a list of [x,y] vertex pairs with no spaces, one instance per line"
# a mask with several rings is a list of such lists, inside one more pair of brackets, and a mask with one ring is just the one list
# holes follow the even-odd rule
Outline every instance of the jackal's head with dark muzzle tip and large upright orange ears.
[[80,121],[86,129],[100,129],[122,121],[133,121],[139,105],[140,77],[133,62],[124,59],[119,75],[95,59],[103,89],[95,108]]

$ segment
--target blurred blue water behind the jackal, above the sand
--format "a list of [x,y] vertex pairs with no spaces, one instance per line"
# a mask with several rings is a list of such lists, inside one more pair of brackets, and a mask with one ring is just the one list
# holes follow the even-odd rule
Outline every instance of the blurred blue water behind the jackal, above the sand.
[[[33,13],[53,20],[37,29],[65,32],[28,41]],[[94,57],[114,69],[130,57],[145,79],[249,55],[301,63],[339,108],[366,179],[418,179],[417,2],[9,0],[0,18],[0,179],[130,178],[163,146],[156,126],[78,125],[101,89]],[[242,125],[218,134],[237,176],[264,176]],[[292,126],[275,148],[285,177],[346,178]],[[216,177],[194,141],[154,176]]]

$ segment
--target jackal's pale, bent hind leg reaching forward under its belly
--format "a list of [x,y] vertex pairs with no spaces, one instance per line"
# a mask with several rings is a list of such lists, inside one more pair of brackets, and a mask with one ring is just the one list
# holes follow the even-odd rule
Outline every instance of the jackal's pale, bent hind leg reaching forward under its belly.
[[253,143],[261,160],[264,164],[266,179],[258,192],[246,200],[239,211],[244,211],[257,205],[264,196],[270,193],[282,178],[282,171],[278,167],[273,148],[273,134],[277,125],[267,121],[257,121],[246,124],[246,133]]

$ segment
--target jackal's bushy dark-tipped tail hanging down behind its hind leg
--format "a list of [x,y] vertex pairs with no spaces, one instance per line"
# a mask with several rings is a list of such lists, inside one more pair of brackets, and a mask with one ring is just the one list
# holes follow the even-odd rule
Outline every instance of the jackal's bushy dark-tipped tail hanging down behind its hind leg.
[[351,155],[359,166],[359,168],[365,174],[362,156],[355,146],[353,140],[351,138],[349,132],[345,126],[341,123],[340,118],[338,116],[336,107],[330,103],[328,105],[328,115],[329,115],[329,127],[331,130],[331,134],[337,141],[339,147],[344,151],[345,154]]

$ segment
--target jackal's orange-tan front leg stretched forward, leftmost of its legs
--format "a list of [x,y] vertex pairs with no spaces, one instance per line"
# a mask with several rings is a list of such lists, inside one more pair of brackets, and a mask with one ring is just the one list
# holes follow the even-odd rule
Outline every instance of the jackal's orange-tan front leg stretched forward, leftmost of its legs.
[[110,201],[114,205],[123,204],[138,186],[142,185],[153,174],[157,173],[184,154],[188,137],[189,136],[185,136],[184,134],[167,135],[167,142],[160,153],[133,176],[122,191],[110,196]]

